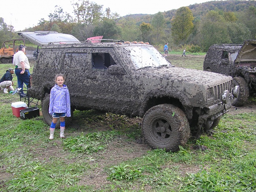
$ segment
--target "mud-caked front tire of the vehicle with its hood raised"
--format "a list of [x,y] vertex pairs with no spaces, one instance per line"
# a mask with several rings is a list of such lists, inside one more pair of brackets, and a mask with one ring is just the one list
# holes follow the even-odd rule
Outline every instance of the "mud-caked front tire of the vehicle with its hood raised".
[[237,98],[234,99],[233,106],[242,106],[247,101],[249,97],[249,87],[245,79],[242,77],[233,78],[234,86],[239,85],[240,93]]

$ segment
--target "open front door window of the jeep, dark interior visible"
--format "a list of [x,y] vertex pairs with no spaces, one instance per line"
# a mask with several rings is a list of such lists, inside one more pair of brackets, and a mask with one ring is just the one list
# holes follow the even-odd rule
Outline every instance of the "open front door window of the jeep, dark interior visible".
[[92,69],[108,69],[110,65],[116,65],[109,53],[92,53]]

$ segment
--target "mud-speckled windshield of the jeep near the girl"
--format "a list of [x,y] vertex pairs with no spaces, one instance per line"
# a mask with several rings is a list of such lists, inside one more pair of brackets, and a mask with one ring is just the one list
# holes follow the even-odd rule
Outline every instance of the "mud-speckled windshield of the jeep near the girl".
[[160,67],[170,63],[153,46],[127,46],[136,70],[144,67]]

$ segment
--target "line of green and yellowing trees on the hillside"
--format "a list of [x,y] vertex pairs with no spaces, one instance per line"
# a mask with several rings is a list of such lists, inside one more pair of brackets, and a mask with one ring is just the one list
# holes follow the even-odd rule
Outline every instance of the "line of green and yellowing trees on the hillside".
[[[72,34],[80,41],[103,35],[105,39],[143,41],[162,48],[191,52],[207,51],[213,44],[242,44],[256,39],[256,1],[209,1],[180,7],[154,15],[134,14],[120,17],[110,8],[89,0],[73,1],[74,16],[55,6],[48,20],[23,31],[57,31]],[[201,10],[201,11],[200,11]],[[0,18],[0,43],[18,38],[14,27]]]

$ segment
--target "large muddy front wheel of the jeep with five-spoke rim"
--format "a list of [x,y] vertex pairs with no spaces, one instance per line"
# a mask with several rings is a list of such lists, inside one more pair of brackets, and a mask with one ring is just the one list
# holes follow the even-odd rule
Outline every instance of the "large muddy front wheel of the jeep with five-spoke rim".
[[149,109],[142,119],[142,132],[153,149],[178,151],[187,143],[190,128],[185,113],[174,105],[162,104]]

